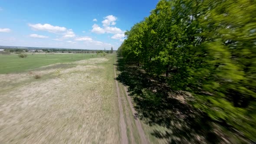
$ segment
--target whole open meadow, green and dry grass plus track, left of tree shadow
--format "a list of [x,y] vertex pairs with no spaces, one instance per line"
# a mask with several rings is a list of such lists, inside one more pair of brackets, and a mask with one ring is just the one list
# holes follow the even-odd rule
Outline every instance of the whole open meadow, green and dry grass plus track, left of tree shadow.
[[0,55],[0,143],[147,144],[116,55]]

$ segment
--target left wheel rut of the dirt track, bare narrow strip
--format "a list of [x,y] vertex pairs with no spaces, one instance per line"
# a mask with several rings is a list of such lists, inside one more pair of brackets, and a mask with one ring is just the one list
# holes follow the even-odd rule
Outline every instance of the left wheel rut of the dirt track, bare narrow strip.
[[[115,66],[114,66],[114,71],[116,71]],[[116,72],[115,72],[115,77],[116,77]],[[116,90],[117,90],[117,95],[118,95],[118,107],[119,107],[119,112],[120,112],[121,144],[128,144],[128,137],[127,137],[127,132],[126,132],[127,129],[126,129],[124,112],[123,112],[123,107],[122,107],[122,100],[120,97],[120,90],[118,87],[117,80],[115,80],[115,85],[116,85]]]

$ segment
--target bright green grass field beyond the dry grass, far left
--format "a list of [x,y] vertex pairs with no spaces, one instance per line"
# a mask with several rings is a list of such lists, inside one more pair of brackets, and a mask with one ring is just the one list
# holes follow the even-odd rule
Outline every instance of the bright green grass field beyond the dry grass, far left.
[[0,55],[0,74],[24,72],[54,63],[75,62],[96,57],[97,54],[28,54],[20,58],[17,54]]

